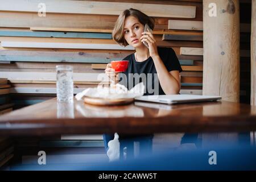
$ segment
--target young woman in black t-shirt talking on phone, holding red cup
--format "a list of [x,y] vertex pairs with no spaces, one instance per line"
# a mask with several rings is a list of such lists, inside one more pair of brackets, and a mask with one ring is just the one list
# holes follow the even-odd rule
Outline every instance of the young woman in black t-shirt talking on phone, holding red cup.
[[[134,78],[144,79],[146,88],[144,95],[150,94],[178,94],[180,92],[180,67],[179,60],[172,48],[157,47],[156,40],[150,31],[144,32],[144,26],[154,29],[154,20],[139,10],[129,9],[123,11],[115,22],[113,39],[121,46],[130,45],[135,48],[135,53],[125,57],[129,66],[125,72],[127,88],[137,84]],[[146,42],[148,48],[143,44]],[[117,79],[117,73],[107,65],[105,73],[112,79]],[[142,76],[141,76],[142,75]],[[143,76],[144,75],[144,76]],[[139,79],[136,79],[136,76]],[[143,80],[142,79],[142,80]],[[146,84],[146,85],[145,85]],[[154,88],[154,89],[153,89]],[[114,135],[104,135],[105,148]],[[143,136],[152,140],[152,135]]]

